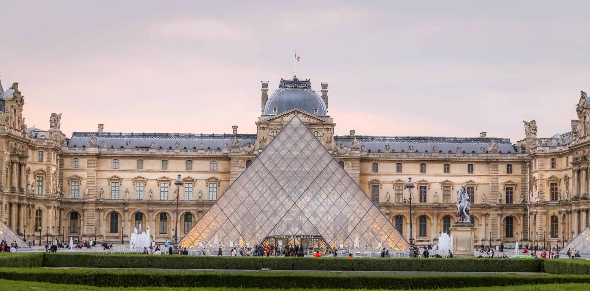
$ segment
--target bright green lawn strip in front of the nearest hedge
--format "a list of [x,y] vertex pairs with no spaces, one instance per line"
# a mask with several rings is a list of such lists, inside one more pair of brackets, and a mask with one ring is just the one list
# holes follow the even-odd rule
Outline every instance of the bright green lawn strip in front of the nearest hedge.
[[[11,291],[107,291],[107,290],[149,290],[149,291],[276,291],[276,289],[239,289],[239,288],[168,288],[168,287],[146,287],[146,288],[123,288],[123,287],[93,287],[86,285],[65,285],[53,283],[11,281],[0,279],[2,290]],[[309,291],[310,289],[290,289],[291,291]],[[315,289],[318,291],[350,291],[348,289]],[[357,289],[363,290],[363,289]],[[461,289],[441,289],[445,291],[586,291],[590,290],[590,284],[549,284],[549,285],[525,285],[512,287],[478,287],[478,288],[461,288]],[[363,290],[364,291],[364,290]]]

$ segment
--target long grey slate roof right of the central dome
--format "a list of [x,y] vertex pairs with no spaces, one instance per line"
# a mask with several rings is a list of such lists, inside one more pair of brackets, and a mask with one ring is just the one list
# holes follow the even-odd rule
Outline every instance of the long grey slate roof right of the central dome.
[[334,140],[337,144],[342,143],[350,147],[352,139],[356,138],[361,145],[366,146],[366,151],[381,152],[385,151],[385,145],[389,145],[390,151],[408,152],[409,146],[414,146],[414,151],[418,152],[432,152],[432,147],[436,146],[437,151],[447,153],[448,151],[457,152],[457,146],[461,147],[461,151],[471,153],[475,151],[480,152],[483,146],[486,151],[489,149],[489,143],[494,140],[497,142],[500,151],[503,153],[515,153],[514,147],[510,144],[510,139],[503,138],[454,138],[454,137],[437,137],[437,136],[351,136],[351,135],[337,135]]

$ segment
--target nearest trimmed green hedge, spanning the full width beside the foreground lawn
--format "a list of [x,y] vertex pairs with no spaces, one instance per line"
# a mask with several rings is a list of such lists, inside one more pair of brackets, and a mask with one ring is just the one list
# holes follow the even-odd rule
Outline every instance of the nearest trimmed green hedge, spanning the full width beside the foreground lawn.
[[0,268],[0,279],[68,283],[99,287],[160,286],[271,289],[438,289],[552,283],[590,283],[590,276],[582,275],[374,276],[278,272],[198,273],[37,268]]

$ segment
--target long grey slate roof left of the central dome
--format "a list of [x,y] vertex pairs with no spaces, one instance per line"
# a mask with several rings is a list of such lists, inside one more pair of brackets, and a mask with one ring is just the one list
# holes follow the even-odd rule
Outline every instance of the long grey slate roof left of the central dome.
[[[139,148],[149,148],[150,143],[155,142],[156,148],[169,149],[174,148],[175,143],[181,144],[180,148],[192,149],[199,148],[199,143],[203,143],[205,149],[223,148],[224,143],[231,146],[232,134],[215,134],[215,133],[128,133],[128,132],[74,132],[72,138],[68,142],[68,146],[74,145],[88,146],[91,136],[96,135],[99,146],[102,146],[103,141],[107,142],[107,148],[125,147],[125,142],[131,142],[131,148],[136,146]],[[248,142],[254,143],[256,135],[238,135],[240,146]]]

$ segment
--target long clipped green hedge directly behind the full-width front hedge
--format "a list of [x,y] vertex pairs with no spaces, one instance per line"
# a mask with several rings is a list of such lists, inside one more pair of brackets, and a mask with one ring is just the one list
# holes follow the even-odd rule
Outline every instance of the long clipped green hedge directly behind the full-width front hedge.
[[148,256],[44,253],[44,267],[415,272],[543,272],[542,260]]

